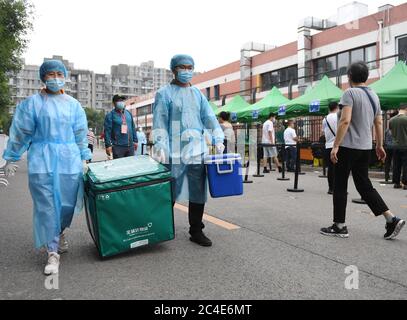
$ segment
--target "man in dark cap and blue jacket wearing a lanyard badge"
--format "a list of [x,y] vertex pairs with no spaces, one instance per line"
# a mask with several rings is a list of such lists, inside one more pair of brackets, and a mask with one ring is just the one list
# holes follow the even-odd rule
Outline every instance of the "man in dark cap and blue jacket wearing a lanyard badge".
[[113,97],[114,110],[105,117],[106,154],[111,159],[134,156],[138,148],[138,139],[133,116],[126,110],[123,96]]

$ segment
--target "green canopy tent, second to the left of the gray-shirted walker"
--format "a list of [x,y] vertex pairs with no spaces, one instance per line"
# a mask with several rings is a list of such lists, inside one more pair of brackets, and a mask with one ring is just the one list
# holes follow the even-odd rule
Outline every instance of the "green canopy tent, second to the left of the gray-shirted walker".
[[277,113],[279,106],[289,101],[280,90],[273,87],[262,100],[239,111],[238,120],[246,123],[266,120],[271,112]]

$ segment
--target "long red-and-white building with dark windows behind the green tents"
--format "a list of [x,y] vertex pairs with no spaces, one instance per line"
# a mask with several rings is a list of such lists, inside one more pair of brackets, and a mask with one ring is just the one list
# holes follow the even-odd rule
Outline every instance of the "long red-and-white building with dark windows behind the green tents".
[[[239,61],[199,74],[193,84],[221,107],[237,94],[254,103],[273,86],[296,98],[323,75],[347,89],[346,69],[354,61],[367,62],[369,83],[376,81],[407,57],[407,3],[367,13],[367,5],[353,2],[329,19],[308,17],[299,23],[296,41],[280,47],[246,44]],[[136,124],[147,130],[153,103],[154,95],[149,94],[131,107]]]

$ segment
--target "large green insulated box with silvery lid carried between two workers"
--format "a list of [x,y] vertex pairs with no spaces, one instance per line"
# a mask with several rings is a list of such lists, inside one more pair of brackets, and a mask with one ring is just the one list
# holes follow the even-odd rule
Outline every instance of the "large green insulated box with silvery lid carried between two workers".
[[85,208],[101,257],[173,240],[171,172],[149,156],[89,164]]

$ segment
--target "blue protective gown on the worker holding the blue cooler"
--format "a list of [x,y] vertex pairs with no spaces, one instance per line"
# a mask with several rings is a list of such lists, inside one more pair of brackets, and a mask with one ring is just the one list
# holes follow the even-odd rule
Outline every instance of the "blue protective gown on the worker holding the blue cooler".
[[213,144],[224,140],[208,100],[196,87],[170,84],[157,92],[153,113],[155,149],[162,149],[169,158],[176,200],[204,204],[207,201],[204,157],[208,153],[205,134],[213,137]]

